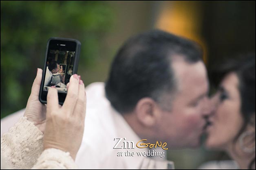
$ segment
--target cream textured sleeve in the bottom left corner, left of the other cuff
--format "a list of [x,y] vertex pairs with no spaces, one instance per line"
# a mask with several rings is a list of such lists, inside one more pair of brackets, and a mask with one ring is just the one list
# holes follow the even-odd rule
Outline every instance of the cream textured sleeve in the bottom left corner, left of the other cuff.
[[43,151],[43,133],[25,117],[1,137],[1,156],[8,166],[30,169]]

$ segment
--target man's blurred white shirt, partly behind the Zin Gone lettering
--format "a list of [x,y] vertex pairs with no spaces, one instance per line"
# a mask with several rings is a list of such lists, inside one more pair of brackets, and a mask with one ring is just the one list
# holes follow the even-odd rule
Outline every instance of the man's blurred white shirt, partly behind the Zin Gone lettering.
[[[79,168],[139,168],[143,156],[136,152],[147,152],[146,148],[137,148],[140,140],[120,113],[117,113],[105,97],[104,83],[92,83],[86,87],[86,118],[82,144],[75,162]],[[126,137],[126,140],[124,140]],[[134,149],[113,149],[118,139],[133,141]],[[134,152],[134,156],[117,156],[118,152]]]

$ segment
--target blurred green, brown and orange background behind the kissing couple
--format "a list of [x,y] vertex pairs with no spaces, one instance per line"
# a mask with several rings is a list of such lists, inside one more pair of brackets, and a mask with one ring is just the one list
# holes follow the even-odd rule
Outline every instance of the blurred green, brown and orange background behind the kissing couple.
[[[50,37],[74,38],[85,85],[105,81],[124,41],[159,28],[199,42],[208,69],[255,52],[255,1],[1,1],[1,118],[26,107]],[[171,150],[175,168],[228,159],[203,147]]]

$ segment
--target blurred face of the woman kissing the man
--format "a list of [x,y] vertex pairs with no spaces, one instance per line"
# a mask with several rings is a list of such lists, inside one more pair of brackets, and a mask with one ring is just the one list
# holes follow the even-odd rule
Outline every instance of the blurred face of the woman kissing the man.
[[241,97],[238,90],[238,76],[231,72],[221,82],[218,92],[211,102],[215,110],[209,121],[206,146],[215,149],[227,149],[243,125]]

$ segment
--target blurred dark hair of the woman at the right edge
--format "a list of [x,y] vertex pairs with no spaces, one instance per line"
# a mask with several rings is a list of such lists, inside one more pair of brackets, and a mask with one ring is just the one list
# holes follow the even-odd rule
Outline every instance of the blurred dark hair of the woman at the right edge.
[[[235,143],[238,137],[245,131],[247,125],[250,124],[255,127],[255,53],[226,59],[222,64],[218,65],[218,68],[216,66],[214,68],[214,71],[209,73],[209,75],[212,84],[215,86],[230,72],[235,72],[238,76],[238,90],[241,96],[241,113],[244,123],[234,139]],[[255,133],[252,141],[255,142]],[[255,157],[248,168],[251,169],[254,163]]]

